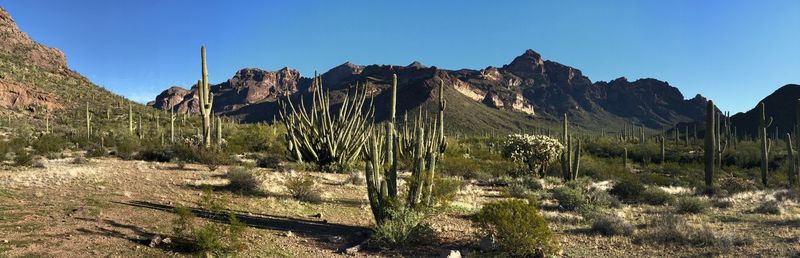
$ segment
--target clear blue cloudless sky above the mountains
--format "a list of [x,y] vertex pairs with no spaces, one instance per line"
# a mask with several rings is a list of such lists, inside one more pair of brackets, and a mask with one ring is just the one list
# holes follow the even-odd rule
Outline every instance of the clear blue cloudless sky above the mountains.
[[345,61],[447,69],[510,62],[525,49],[593,81],[668,81],[745,111],[800,83],[800,1],[0,0],[72,69],[145,102],[200,76]]

